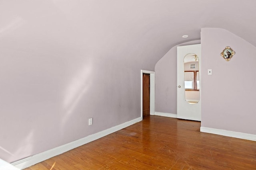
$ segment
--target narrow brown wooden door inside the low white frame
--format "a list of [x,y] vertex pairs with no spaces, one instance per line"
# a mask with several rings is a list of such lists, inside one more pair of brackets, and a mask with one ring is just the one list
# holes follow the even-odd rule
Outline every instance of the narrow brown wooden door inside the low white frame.
[[150,115],[150,74],[143,74],[143,117]]

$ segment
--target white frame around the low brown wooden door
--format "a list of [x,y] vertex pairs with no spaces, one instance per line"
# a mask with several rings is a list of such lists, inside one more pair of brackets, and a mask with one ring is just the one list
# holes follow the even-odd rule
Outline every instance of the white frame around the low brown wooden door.
[[150,115],[155,115],[155,72],[140,70],[140,115],[143,118],[143,73],[150,74]]

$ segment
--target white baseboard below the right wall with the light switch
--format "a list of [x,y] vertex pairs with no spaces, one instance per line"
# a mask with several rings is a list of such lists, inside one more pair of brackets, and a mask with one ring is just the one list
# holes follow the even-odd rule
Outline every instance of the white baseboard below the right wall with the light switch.
[[246,139],[250,141],[256,141],[256,135],[242,133],[242,132],[226,131],[222,129],[214,129],[214,128],[202,127],[202,126],[200,127],[200,132],[212,133],[212,134],[228,136],[228,137],[235,137],[235,138]]

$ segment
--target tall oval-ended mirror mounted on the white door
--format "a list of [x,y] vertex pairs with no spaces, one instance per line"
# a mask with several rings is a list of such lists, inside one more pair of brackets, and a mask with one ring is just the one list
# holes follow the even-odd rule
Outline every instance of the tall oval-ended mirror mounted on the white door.
[[194,53],[184,57],[185,99],[189,104],[197,104],[200,100],[199,58]]

